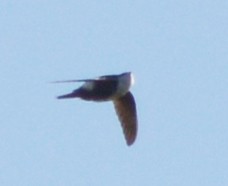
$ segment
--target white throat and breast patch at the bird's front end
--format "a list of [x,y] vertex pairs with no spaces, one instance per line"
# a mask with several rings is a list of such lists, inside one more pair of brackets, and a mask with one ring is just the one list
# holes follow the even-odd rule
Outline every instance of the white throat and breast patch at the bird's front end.
[[127,73],[127,74],[124,74],[123,76],[120,76],[117,92],[116,92],[117,95],[118,96],[125,95],[133,84],[134,84],[134,77],[132,73]]

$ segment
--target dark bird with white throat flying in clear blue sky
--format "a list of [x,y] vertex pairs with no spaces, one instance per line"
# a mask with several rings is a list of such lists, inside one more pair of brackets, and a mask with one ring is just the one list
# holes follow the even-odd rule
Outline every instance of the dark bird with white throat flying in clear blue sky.
[[137,135],[137,112],[132,93],[129,91],[134,83],[131,72],[119,75],[105,75],[95,79],[55,81],[83,82],[73,92],[58,96],[58,99],[81,98],[86,101],[113,101],[128,146],[132,145]]

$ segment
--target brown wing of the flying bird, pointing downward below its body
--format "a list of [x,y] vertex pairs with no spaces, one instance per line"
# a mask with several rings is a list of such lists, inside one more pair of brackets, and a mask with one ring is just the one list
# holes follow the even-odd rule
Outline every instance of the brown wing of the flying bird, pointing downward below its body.
[[130,92],[128,92],[123,97],[115,99],[114,105],[127,144],[132,145],[137,135],[137,113],[134,97]]

